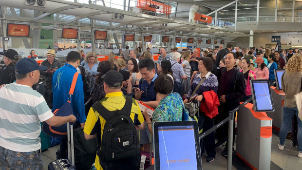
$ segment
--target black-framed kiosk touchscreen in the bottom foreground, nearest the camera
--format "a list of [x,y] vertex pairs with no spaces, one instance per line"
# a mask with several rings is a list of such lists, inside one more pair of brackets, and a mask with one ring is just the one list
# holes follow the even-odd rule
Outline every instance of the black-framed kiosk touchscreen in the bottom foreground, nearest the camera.
[[202,170],[196,121],[153,123],[154,170]]

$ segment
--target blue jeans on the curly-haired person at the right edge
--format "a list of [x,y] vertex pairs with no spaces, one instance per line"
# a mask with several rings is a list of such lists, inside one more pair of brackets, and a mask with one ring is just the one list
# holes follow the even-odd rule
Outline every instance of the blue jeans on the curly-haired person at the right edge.
[[287,108],[285,106],[283,106],[283,122],[281,125],[281,129],[280,129],[280,144],[284,145],[285,142],[285,138],[288,132],[288,128],[290,126],[290,124],[292,124],[292,118],[295,116],[297,116],[297,120],[298,120],[298,144],[299,144],[299,151],[302,151],[302,121],[301,119],[298,117],[298,109],[297,107],[294,108]]

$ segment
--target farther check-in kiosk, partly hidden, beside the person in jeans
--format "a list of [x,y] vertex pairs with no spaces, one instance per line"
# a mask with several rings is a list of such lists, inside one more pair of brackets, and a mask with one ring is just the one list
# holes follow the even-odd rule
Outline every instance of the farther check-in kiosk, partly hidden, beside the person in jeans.
[[276,87],[270,87],[272,92],[272,97],[274,99],[274,112],[267,112],[266,114],[268,117],[272,118],[273,121],[273,128],[280,131],[281,124],[283,121],[283,103],[285,94],[282,90],[281,84],[281,76],[285,72],[285,69],[275,69],[275,78],[276,78]]

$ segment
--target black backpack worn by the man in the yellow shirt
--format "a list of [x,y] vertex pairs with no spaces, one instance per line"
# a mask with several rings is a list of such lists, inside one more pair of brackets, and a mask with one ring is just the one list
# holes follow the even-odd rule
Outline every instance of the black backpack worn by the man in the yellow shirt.
[[121,110],[108,111],[99,102],[92,106],[106,120],[97,148],[104,170],[136,170],[140,165],[140,144],[130,117],[132,97],[125,97],[125,106]]

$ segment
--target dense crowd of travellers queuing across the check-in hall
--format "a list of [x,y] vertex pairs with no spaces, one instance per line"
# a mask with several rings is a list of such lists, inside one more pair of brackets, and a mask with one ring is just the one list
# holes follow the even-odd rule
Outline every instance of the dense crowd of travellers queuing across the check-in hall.
[[[270,85],[275,86],[275,69],[285,69],[282,86],[286,95],[278,148],[283,150],[289,124],[296,114],[299,127],[298,157],[302,158],[302,121],[298,117],[294,99],[294,95],[301,89],[302,53],[299,49],[289,48],[288,52],[265,49],[262,46],[258,49],[255,47],[241,49],[227,43],[226,48],[220,45],[219,49],[208,48],[201,50],[200,53],[197,49],[187,48],[181,53],[178,50],[173,48],[168,53],[167,49],[162,47],[159,50],[158,60],[154,61],[150,48],[142,53],[140,48],[129,50],[129,46],[126,46],[125,50],[119,51],[124,59],[115,59],[115,54],[112,53],[109,55],[109,60],[101,62],[97,60],[96,53],[93,51],[85,55],[84,51],[71,51],[64,65],[55,58],[55,50],[49,50],[47,59],[41,63],[41,66],[36,64],[33,58],[20,59],[15,50],[0,52],[6,64],[0,72],[0,85],[3,84],[0,87],[2,101],[0,110],[3,111],[0,115],[0,124],[6,125],[5,129],[0,128],[2,153],[0,165],[2,168],[19,169],[18,166],[21,165],[15,162],[21,160],[22,166],[26,165],[29,169],[33,166],[43,166],[38,140],[39,122],[42,121],[46,121],[51,126],[73,121],[74,127],[84,129],[86,139],[97,137],[102,141],[104,126],[108,120],[94,108],[94,105],[85,111],[88,98],[91,98],[92,104],[100,103],[109,112],[116,112],[124,110],[128,98],[131,97],[131,112],[128,116],[137,130],[139,136],[137,140],[142,151],[150,151],[152,122],[191,120],[192,117],[198,121],[200,130],[205,132],[224,120],[228,112],[236,108],[239,102],[251,98],[250,80],[268,79]],[[83,70],[78,67],[83,67],[85,72],[93,77],[92,89],[84,88],[86,83],[82,78],[87,77],[87,73],[83,75]],[[69,95],[75,73],[79,73],[79,76],[74,94]],[[45,99],[42,94],[32,89],[40,75],[45,77],[45,87],[52,91],[51,96],[45,95]],[[54,112],[67,100],[71,103],[74,115],[60,118],[53,116],[50,109]],[[186,104],[192,100],[201,102],[198,115],[189,113],[186,109]],[[11,105],[8,102],[14,103],[14,109],[8,107]],[[141,111],[138,107],[140,102],[155,109],[152,116],[147,110]],[[212,109],[205,109],[208,107]],[[231,123],[235,124],[235,122]],[[201,149],[207,152],[207,162],[214,161],[215,148],[226,145],[227,127],[228,123],[223,124],[216,133],[211,132],[200,141]],[[22,134],[26,137],[22,137]],[[102,135],[99,136],[100,134]],[[27,147],[24,147],[25,144]],[[62,158],[66,158],[66,148],[67,137],[61,139]],[[7,155],[23,152],[26,154],[20,157],[34,155],[35,159],[7,160]],[[222,155],[227,156],[227,147],[222,151]],[[131,164],[137,166],[134,160]],[[104,169],[107,163],[103,163],[103,157],[96,154],[96,169]],[[118,161],[110,162],[108,166],[118,167],[118,164]],[[125,162],[123,167],[127,169]]]

